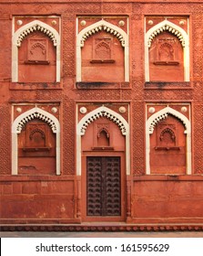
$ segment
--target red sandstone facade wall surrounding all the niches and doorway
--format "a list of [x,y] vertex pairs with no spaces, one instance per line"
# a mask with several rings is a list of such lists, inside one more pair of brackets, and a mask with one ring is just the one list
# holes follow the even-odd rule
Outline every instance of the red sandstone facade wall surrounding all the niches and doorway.
[[[76,101],[130,102],[131,173],[137,178],[131,189],[131,221],[146,223],[202,223],[203,174],[203,10],[202,5],[186,1],[22,1],[2,0],[0,4],[0,174],[2,222],[16,223],[64,219],[76,222]],[[18,3],[20,2],[20,4]],[[144,1],[145,2],[145,1]],[[151,3],[153,2],[153,5]],[[182,2],[182,4],[181,4]],[[195,2],[195,1],[194,1]],[[38,4],[36,4],[38,3]],[[12,16],[61,16],[62,57],[60,83],[12,83],[11,35]],[[106,87],[76,88],[76,15],[129,16],[130,82],[111,83]],[[189,16],[190,82],[147,83],[144,80],[144,16]],[[73,31],[70,32],[70,31]],[[83,87],[84,88],[84,87]],[[107,90],[106,90],[107,89]],[[11,105],[19,102],[60,102],[62,132],[62,175],[11,176]],[[145,102],[191,102],[192,112],[192,176],[198,181],[157,181],[145,176]],[[155,179],[155,180],[153,180]],[[132,178],[133,181],[133,178]],[[175,218],[175,219],[174,219]],[[20,219],[20,220],[19,220]],[[41,219],[41,220],[40,220]],[[50,220],[51,222],[52,220]],[[62,220],[63,221],[63,220]]]

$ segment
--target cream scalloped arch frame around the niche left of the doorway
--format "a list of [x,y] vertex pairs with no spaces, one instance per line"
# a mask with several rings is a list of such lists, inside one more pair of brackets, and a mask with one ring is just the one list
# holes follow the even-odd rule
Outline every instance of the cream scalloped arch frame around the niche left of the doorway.
[[56,175],[60,175],[60,123],[53,114],[37,107],[19,115],[12,124],[12,175],[18,173],[17,134],[21,133],[25,123],[35,118],[48,123],[52,132],[56,133]]

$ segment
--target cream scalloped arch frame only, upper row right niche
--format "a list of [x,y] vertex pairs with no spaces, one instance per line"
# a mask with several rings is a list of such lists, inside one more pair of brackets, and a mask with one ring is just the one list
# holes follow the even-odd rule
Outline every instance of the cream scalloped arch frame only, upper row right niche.
[[151,27],[145,36],[145,65],[146,65],[146,81],[149,81],[149,56],[148,56],[148,48],[151,47],[151,43],[157,35],[162,32],[167,31],[176,37],[180,41],[183,47],[183,55],[184,55],[184,80],[189,81],[189,37],[187,32],[182,28],[178,27],[178,25],[168,21],[167,19],[158,23],[156,26]]

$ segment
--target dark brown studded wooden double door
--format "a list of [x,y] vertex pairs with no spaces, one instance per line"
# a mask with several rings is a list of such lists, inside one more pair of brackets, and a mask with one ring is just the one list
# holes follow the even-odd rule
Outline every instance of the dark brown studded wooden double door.
[[86,157],[86,216],[121,216],[119,156]]

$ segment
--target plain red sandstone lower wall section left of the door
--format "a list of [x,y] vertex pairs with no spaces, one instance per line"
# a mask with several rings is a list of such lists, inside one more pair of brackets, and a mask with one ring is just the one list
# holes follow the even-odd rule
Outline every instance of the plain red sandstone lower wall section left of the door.
[[70,178],[28,176],[12,180],[8,176],[1,183],[1,221],[76,222],[74,191]]

